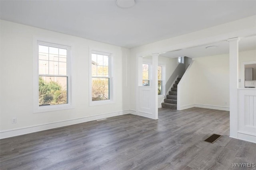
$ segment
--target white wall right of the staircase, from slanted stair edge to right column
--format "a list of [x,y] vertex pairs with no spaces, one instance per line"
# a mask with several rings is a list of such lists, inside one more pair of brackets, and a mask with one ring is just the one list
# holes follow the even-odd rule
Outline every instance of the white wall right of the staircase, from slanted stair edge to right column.
[[195,58],[178,84],[178,109],[229,108],[229,56]]

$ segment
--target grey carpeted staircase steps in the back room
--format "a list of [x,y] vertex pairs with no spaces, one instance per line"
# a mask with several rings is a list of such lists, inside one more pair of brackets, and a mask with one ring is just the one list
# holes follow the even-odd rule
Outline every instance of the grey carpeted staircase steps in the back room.
[[169,95],[166,95],[166,99],[164,99],[164,103],[162,103],[162,107],[169,108],[169,109],[177,109],[177,86],[180,82],[181,78],[177,78],[175,84],[171,88]]

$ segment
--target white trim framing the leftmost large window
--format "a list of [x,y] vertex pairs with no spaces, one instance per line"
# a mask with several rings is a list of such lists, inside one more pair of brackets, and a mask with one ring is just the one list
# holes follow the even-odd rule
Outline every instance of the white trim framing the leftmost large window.
[[[74,106],[72,105],[72,88],[71,88],[71,47],[66,45],[60,45],[59,43],[48,43],[46,41],[40,41],[34,37],[33,40],[33,113],[41,113],[48,111],[58,111],[64,109],[72,109]],[[58,105],[50,105],[50,106],[39,106],[39,59],[38,59],[38,45],[48,45],[51,47],[57,48],[65,48],[68,49],[68,57],[67,57],[67,77],[68,77],[68,104],[58,104]]]

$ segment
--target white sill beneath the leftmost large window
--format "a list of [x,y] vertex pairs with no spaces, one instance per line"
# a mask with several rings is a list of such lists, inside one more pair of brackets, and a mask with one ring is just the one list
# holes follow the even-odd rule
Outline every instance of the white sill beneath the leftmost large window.
[[74,109],[74,106],[71,104],[37,106],[36,108],[34,108],[33,113],[42,113],[42,112],[58,111],[58,110],[66,110],[66,109]]

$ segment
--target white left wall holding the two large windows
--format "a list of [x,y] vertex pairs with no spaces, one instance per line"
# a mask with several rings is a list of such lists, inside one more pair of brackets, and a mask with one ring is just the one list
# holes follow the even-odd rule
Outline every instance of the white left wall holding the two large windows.
[[[88,121],[86,117],[93,119],[94,115],[113,112],[121,114],[123,112],[120,111],[129,109],[127,70],[129,49],[4,20],[0,20],[0,36],[1,132],[79,118],[81,121]],[[71,93],[74,97],[72,99],[74,109],[33,113],[33,39],[35,37],[48,39],[50,43],[71,46]],[[89,48],[112,53],[114,104],[89,107]],[[12,117],[17,118],[17,123],[11,123]],[[62,125],[66,124],[62,123]]]

